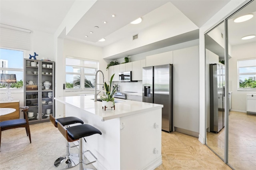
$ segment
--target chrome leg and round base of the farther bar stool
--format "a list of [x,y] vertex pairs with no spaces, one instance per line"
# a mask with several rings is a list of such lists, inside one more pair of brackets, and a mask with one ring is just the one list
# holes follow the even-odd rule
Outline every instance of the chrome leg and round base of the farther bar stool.
[[[66,125],[65,128],[67,127],[68,126]],[[78,154],[70,154],[70,144],[68,140],[66,140],[66,154],[63,156],[60,156],[58,159],[55,160],[54,167],[57,169],[63,170],[63,169],[73,168],[78,164],[79,164],[79,156]]]

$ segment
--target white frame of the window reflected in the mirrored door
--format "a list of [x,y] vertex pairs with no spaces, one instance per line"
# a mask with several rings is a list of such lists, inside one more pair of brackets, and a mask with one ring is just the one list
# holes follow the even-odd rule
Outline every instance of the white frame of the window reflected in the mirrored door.
[[255,74],[256,75],[256,72],[248,72],[248,73],[240,73],[239,72],[239,69],[240,68],[245,68],[245,67],[256,67],[256,65],[249,65],[249,66],[239,66],[239,62],[240,61],[245,61],[245,60],[252,60],[252,59],[255,59],[256,60],[256,57],[252,57],[252,58],[245,58],[245,59],[238,59],[237,60],[237,90],[238,91],[256,91],[256,88],[241,88],[240,87],[240,75],[248,75],[248,74]]

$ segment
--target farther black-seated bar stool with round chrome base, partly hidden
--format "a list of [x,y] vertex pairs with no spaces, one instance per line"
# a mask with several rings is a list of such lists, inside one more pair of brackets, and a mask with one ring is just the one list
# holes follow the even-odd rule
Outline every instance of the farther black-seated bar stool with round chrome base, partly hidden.
[[[58,123],[60,123],[66,128],[68,127],[68,125],[72,125],[75,123],[84,124],[84,122],[81,119],[78,119],[77,117],[62,117],[62,118],[55,119],[52,115],[50,115],[50,121],[55,127],[58,127]],[[70,146],[68,140],[66,140],[66,154],[63,156],[60,156],[58,159],[55,160],[54,162],[55,168],[68,169],[79,164],[78,154],[70,154],[70,148],[73,148],[73,147],[75,146]]]

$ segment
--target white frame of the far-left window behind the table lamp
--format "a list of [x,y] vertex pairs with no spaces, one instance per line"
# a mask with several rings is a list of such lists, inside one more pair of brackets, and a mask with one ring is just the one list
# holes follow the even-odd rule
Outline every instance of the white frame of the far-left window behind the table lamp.
[[[16,89],[16,88],[10,88],[10,91],[12,91],[12,93],[23,93],[24,91],[24,58],[25,58],[25,51],[24,49],[14,49],[14,48],[8,48],[8,47],[0,47],[0,49],[8,49],[8,50],[14,50],[14,51],[22,51],[23,55],[22,55],[22,68],[8,68],[8,67],[0,67],[0,70],[3,71],[21,71],[22,72],[22,81],[23,81],[23,85],[22,88]],[[12,60],[10,60],[12,61]],[[0,88],[1,93],[4,93],[2,91],[6,91],[6,88]]]

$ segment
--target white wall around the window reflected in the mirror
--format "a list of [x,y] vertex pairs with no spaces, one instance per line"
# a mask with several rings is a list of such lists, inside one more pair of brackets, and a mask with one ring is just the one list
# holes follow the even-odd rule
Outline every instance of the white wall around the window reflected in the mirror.
[[232,46],[232,58],[229,64],[229,91],[232,91],[232,111],[246,112],[246,94],[256,94],[256,91],[238,91],[237,60],[256,57],[256,43],[246,43]]

